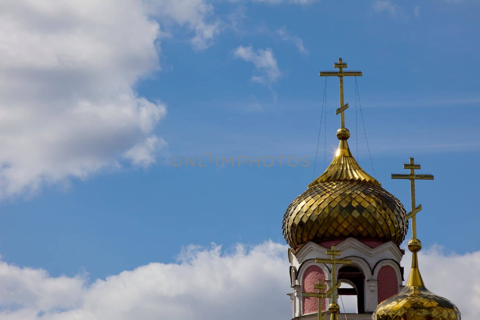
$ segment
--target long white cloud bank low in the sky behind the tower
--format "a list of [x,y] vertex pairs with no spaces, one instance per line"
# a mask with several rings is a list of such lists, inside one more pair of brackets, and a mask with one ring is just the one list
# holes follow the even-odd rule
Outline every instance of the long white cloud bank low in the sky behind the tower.
[[[85,275],[51,277],[0,261],[0,317],[5,320],[289,319],[287,247],[271,241],[230,251],[186,248],[178,263],[150,263],[89,284]],[[475,319],[480,251],[420,252],[427,287]],[[406,258],[408,257],[408,254]],[[407,259],[405,259],[407,260]],[[403,261],[408,275],[409,261]],[[344,297],[343,302],[347,304]],[[352,306],[346,306],[351,309]],[[343,309],[343,308],[342,308]]]

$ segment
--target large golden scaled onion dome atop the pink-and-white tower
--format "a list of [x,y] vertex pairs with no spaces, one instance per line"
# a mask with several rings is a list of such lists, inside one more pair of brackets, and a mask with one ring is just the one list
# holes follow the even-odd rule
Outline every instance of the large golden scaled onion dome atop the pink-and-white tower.
[[359,166],[348,147],[348,129],[336,135],[340,143],[331,164],[288,206],[285,239],[291,248],[347,237],[399,245],[408,228],[405,208]]

